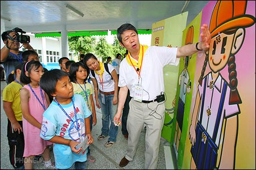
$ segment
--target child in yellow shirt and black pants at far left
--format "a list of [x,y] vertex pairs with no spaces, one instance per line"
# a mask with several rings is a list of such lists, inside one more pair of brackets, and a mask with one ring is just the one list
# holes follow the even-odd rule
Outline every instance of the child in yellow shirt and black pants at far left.
[[[24,169],[24,135],[22,129],[22,111],[20,108],[20,74],[22,63],[15,66],[7,79],[7,86],[3,89],[3,110],[8,118],[7,137],[9,143],[9,158],[14,169]],[[14,78],[14,74],[16,78]]]

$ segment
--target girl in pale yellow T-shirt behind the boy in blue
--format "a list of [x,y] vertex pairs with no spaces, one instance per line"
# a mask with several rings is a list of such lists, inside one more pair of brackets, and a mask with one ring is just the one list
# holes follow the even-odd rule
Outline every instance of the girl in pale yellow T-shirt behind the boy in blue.
[[[86,82],[88,78],[89,68],[82,62],[72,63],[69,69],[69,78],[73,84],[74,94],[80,94],[84,97],[85,103],[87,104],[92,114],[90,117],[90,131],[92,131],[92,125],[97,124],[96,110],[93,101],[94,88],[92,84]],[[90,163],[94,163],[96,160],[90,155],[90,148],[88,147],[87,160]]]

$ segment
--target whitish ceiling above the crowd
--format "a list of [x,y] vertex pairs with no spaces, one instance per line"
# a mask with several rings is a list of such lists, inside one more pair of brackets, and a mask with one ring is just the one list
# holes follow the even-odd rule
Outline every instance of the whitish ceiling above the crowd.
[[[152,23],[186,11],[188,25],[208,2],[1,1],[1,25],[5,25],[5,30],[19,27],[26,32],[116,30],[123,23],[131,23],[137,29],[151,29]],[[66,5],[84,16],[69,10]]]

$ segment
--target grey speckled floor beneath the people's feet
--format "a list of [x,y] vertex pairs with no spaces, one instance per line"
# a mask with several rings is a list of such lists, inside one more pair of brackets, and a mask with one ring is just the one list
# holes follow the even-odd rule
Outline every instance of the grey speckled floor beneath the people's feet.
[[[9,146],[6,137],[6,127],[7,127],[7,117],[2,107],[2,90],[6,86],[5,82],[1,82],[1,169],[13,169],[9,163]],[[96,162],[88,163],[88,169],[144,169],[144,135],[145,131],[143,130],[139,139],[137,146],[137,152],[134,156],[134,160],[130,162],[126,167],[119,167],[119,162],[123,158],[126,152],[127,140],[123,137],[121,127],[118,128],[117,142],[110,148],[104,146],[105,142],[108,140],[108,137],[102,141],[97,141],[98,135],[101,134],[101,117],[102,114],[100,109],[96,107],[97,114],[97,125],[93,126],[92,135],[94,138],[94,143],[90,145],[91,155],[96,158]],[[159,160],[157,169],[171,169],[171,164],[166,160],[170,160],[170,154],[165,154],[164,152],[170,151],[168,143],[165,139],[161,139],[160,150],[159,150]],[[166,156],[168,158],[166,158]],[[51,151],[51,156],[53,159],[53,154]],[[166,165],[168,165],[166,167]],[[34,164],[34,169],[44,169],[43,163],[39,162]]]

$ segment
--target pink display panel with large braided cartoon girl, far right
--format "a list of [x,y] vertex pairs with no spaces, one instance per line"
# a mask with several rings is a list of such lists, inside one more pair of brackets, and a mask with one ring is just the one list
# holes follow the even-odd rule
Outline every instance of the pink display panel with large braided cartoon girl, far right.
[[255,1],[209,1],[201,23],[182,168],[255,169]]

